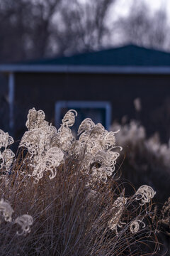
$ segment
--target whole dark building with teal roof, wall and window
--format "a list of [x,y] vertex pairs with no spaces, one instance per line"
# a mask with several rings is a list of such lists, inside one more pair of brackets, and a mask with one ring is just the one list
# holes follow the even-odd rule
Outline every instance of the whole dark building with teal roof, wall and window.
[[124,46],[0,65],[0,72],[8,78],[8,124],[16,137],[23,134],[32,107],[44,110],[56,125],[68,109],[76,109],[78,124],[91,117],[108,128],[127,115],[139,118],[148,134],[159,131],[164,141],[170,137],[170,53]]

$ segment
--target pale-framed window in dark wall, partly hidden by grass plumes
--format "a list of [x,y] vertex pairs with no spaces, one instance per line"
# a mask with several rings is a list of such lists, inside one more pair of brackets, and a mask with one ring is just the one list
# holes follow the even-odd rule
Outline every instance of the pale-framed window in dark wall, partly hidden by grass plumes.
[[106,129],[109,129],[111,125],[111,104],[109,102],[58,101],[55,104],[55,125],[57,129],[60,127],[62,117],[68,110],[77,110],[77,118],[73,127],[76,132],[85,118],[91,118],[95,124],[100,122]]

